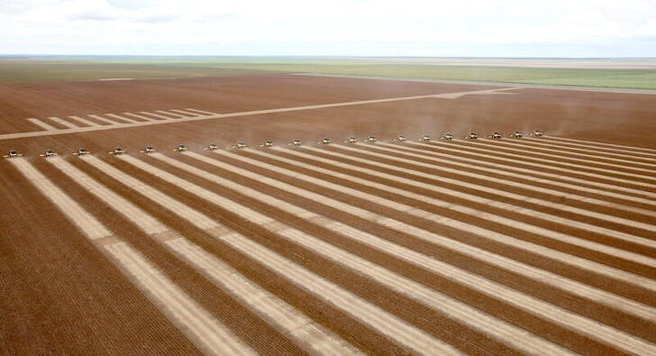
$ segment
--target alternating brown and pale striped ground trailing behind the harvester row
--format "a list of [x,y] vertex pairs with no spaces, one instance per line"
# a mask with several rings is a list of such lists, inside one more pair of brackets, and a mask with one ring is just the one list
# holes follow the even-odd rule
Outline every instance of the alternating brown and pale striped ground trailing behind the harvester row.
[[476,143],[23,158],[3,185],[29,192],[10,206],[47,206],[32,229],[77,241],[53,252],[91,253],[87,273],[112,271],[105,288],[131,290],[180,351],[656,351],[656,201],[549,167],[511,177],[502,145],[459,160]]

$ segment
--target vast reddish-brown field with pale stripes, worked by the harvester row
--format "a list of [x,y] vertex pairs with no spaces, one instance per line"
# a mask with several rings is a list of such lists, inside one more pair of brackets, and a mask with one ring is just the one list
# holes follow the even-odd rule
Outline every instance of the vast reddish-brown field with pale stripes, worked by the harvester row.
[[638,94],[0,85],[0,353],[654,354],[653,132]]

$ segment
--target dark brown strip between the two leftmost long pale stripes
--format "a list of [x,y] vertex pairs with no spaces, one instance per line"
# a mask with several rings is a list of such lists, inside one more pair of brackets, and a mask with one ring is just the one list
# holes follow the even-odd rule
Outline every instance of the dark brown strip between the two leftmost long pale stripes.
[[[81,158],[79,160],[85,159]],[[76,162],[77,160],[73,159],[71,161]],[[59,169],[50,166],[46,162],[41,163],[40,170],[52,178],[53,181],[60,183],[60,187],[68,196],[71,196],[77,202],[84,202],[83,204],[88,213],[95,216],[105,226],[112,226],[117,236],[120,236],[134,250],[139,251],[142,256],[150,260],[187,296],[195,300],[221,324],[225,325],[232,333],[235,333],[238,338],[247,342],[256,350],[301,352],[294,343],[275,329],[272,329],[269,324],[264,323],[257,315],[252,315],[248,309],[241,306],[223,290],[216,288],[213,283],[195,269],[178,260],[165,247],[153,242],[146,233],[135,229],[130,220],[113,209],[108,209],[102,200],[91,195],[87,190],[78,187],[72,179],[61,173]],[[84,167],[77,166],[77,168],[87,173]]]

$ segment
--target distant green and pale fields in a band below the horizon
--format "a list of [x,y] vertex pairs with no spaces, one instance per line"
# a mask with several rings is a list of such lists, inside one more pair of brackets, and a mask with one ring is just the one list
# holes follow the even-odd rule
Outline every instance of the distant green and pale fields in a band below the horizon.
[[[545,64],[544,68],[534,68],[521,67],[522,59],[516,59],[515,62],[518,67],[510,67],[507,63],[503,66],[487,66],[487,62],[478,62],[472,65],[448,65],[445,64],[448,61],[435,63],[415,59],[52,57],[0,60],[0,81],[321,73],[656,89],[656,70],[613,68],[612,60],[599,60],[599,67],[606,65],[609,68],[553,68],[551,64]],[[607,64],[609,62],[611,65]],[[462,62],[458,61],[458,63]],[[489,61],[489,63],[495,62]]]

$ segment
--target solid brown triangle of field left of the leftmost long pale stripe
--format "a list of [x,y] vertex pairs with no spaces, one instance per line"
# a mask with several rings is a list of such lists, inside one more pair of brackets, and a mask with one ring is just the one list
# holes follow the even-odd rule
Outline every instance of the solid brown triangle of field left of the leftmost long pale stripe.
[[0,195],[0,350],[198,353],[50,200],[17,169],[0,165],[0,188],[21,192]]

